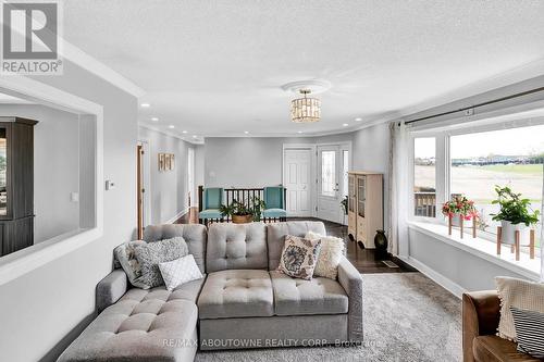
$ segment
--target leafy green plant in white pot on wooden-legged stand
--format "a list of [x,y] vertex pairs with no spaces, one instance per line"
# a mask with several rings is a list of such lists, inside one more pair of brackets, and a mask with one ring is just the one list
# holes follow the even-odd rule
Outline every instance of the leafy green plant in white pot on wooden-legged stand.
[[516,232],[519,232],[520,244],[529,242],[530,226],[539,222],[539,210],[531,209],[531,200],[523,199],[521,194],[516,194],[510,187],[495,186],[497,198],[493,204],[500,207],[499,212],[491,214],[493,221],[500,222],[503,228],[502,242],[514,245]]

